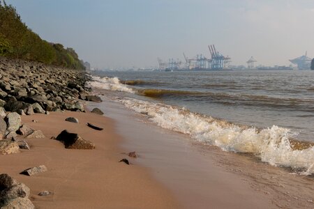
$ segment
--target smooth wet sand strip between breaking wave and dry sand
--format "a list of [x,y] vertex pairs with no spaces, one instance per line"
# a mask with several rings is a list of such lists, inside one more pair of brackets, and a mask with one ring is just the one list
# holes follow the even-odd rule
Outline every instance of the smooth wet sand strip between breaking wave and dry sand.
[[[184,134],[164,130],[147,118],[105,100],[100,107],[117,122],[123,148],[140,154],[182,208],[312,208],[313,178],[293,175],[249,155],[195,144]],[[140,131],[139,131],[140,130]]]

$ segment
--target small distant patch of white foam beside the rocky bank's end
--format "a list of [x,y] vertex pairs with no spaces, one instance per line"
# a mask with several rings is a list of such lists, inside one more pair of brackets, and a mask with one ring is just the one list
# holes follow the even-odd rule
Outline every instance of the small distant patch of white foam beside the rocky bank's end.
[[135,93],[132,88],[121,84],[117,77],[98,77],[93,76],[93,81],[89,82],[89,86],[94,88],[103,88],[110,91],[124,91],[128,93]]

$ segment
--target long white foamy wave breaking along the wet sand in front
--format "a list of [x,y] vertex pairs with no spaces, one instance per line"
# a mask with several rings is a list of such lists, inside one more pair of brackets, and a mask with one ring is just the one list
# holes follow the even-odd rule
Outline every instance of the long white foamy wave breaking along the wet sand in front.
[[262,162],[274,166],[291,167],[301,174],[314,173],[314,147],[293,150],[290,137],[296,133],[287,128],[272,127],[258,130],[255,127],[241,127],[224,121],[191,113],[160,103],[124,99],[121,102],[129,109],[144,113],[160,127],[189,134],[193,139],[212,144],[223,150],[253,153]]

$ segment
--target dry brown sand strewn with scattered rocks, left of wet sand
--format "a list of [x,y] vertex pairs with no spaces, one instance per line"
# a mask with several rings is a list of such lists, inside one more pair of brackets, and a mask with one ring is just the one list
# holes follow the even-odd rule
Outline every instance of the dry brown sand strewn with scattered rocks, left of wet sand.
[[[79,124],[64,121],[73,116]],[[31,122],[33,119],[38,123]],[[93,130],[87,122],[105,129]],[[42,130],[45,139],[27,139],[31,150],[0,157],[0,172],[8,173],[31,189],[36,208],[179,208],[172,194],[151,178],[118,148],[120,137],[114,121],[91,113],[51,113],[22,116],[22,123]],[[95,150],[68,150],[50,139],[62,130],[76,132],[96,144]],[[131,165],[119,162],[128,158]],[[45,164],[48,171],[36,176],[19,174],[24,169]],[[48,190],[50,196],[38,196]]]

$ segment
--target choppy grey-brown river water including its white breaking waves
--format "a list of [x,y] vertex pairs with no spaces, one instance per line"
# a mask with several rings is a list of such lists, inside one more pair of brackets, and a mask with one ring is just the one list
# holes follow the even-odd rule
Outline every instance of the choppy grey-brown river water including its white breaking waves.
[[314,70],[96,72],[91,86],[200,143],[314,173]]

